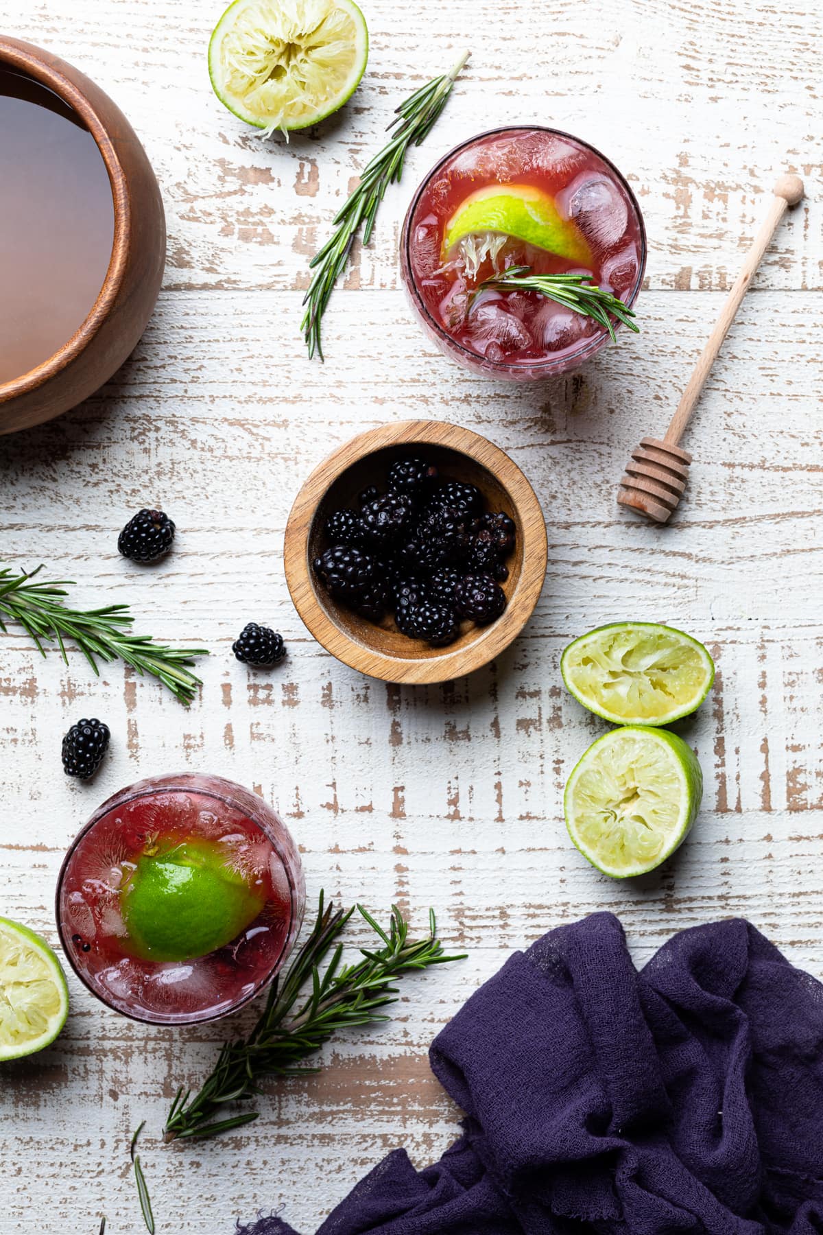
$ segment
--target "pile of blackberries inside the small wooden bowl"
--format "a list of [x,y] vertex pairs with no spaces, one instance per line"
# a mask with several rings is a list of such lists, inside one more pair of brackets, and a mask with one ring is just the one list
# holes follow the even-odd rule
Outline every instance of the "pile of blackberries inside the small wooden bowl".
[[386,461],[376,479],[323,514],[312,571],[325,592],[432,647],[496,621],[517,541],[511,516],[422,452]]

